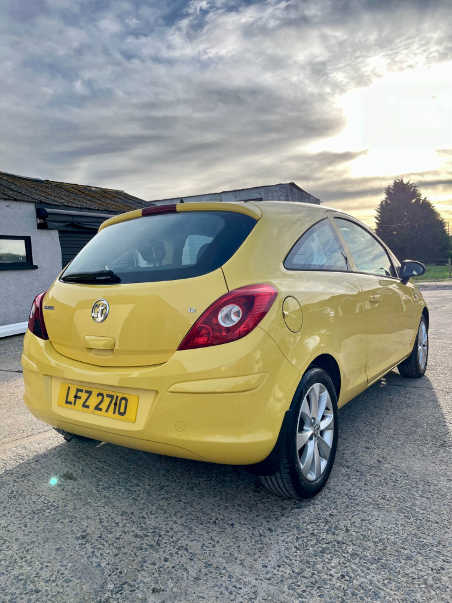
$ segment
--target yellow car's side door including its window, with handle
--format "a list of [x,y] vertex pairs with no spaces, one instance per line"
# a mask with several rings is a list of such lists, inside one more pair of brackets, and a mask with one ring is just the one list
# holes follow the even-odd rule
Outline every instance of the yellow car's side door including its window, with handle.
[[412,291],[398,278],[388,251],[363,225],[334,216],[344,245],[353,257],[365,308],[368,383],[398,364],[411,350],[415,335]]

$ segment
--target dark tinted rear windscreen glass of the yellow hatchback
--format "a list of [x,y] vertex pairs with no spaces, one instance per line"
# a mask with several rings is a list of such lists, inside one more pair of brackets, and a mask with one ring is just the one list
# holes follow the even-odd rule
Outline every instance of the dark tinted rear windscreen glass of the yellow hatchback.
[[255,224],[243,213],[222,211],[162,213],[111,224],[91,239],[61,278],[105,270],[122,283],[201,276],[227,262]]

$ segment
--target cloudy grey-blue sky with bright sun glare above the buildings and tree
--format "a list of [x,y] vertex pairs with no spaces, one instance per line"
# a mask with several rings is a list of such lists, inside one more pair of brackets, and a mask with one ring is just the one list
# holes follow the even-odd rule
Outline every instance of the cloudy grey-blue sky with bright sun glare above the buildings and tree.
[[0,170],[146,200],[293,180],[452,232],[451,0],[0,0]]

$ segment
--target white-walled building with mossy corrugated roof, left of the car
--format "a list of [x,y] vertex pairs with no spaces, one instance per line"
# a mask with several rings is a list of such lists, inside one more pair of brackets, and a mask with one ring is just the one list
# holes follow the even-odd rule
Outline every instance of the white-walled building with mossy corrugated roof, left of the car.
[[0,337],[25,332],[34,297],[105,219],[148,205],[124,191],[0,172]]

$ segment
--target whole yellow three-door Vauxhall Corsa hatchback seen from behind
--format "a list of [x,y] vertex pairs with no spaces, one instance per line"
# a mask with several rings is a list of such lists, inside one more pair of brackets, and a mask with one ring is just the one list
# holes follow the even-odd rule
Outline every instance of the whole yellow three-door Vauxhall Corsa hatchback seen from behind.
[[410,280],[424,271],[327,207],[124,213],[34,300],[25,404],[66,440],[245,465],[309,498],[334,463],[337,409],[394,367],[425,373]]

